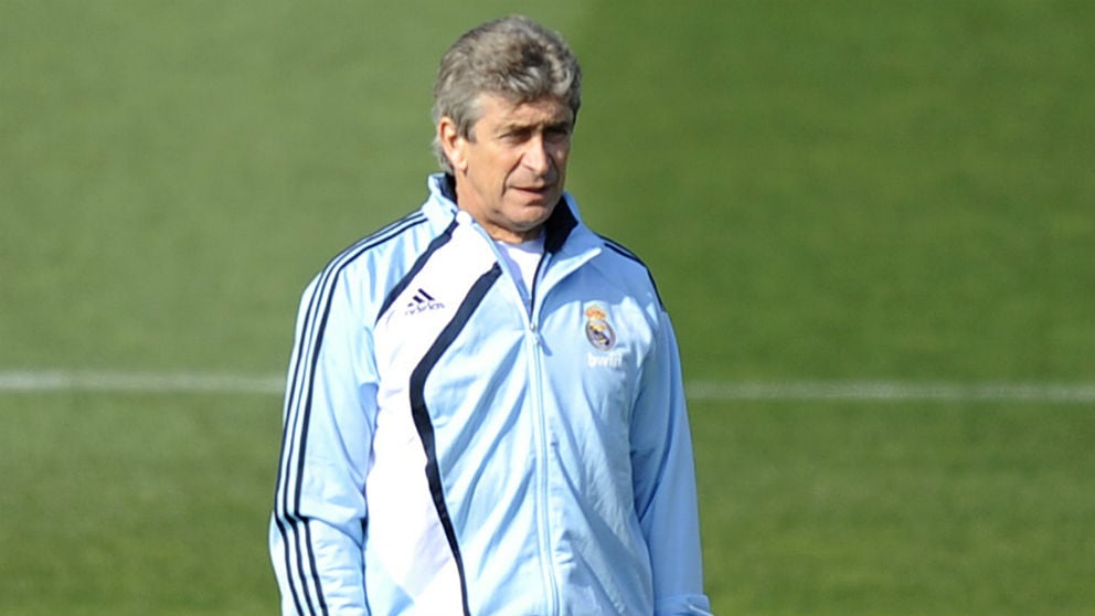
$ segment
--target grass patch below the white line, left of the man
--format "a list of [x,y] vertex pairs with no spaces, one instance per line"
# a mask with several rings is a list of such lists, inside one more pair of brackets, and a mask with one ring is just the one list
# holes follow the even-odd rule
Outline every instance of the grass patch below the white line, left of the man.
[[253,396],[7,396],[0,614],[270,614],[279,414]]

